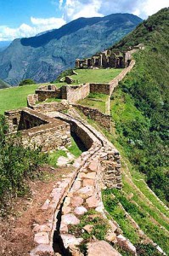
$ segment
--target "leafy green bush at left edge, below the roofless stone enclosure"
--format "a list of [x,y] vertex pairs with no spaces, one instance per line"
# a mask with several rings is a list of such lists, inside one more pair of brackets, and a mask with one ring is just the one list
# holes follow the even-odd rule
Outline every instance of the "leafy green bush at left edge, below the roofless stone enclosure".
[[8,125],[0,116],[0,206],[6,198],[25,190],[25,179],[37,175],[37,167],[47,160],[41,148],[23,148],[20,135],[9,135]]

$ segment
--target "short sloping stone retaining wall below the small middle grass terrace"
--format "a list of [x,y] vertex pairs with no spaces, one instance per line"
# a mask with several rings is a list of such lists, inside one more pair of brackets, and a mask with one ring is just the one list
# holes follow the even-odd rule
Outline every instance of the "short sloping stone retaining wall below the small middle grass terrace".
[[108,114],[101,113],[96,108],[88,108],[79,104],[74,104],[74,107],[82,111],[88,118],[93,119],[102,125],[105,129],[110,131],[111,128],[111,117]]

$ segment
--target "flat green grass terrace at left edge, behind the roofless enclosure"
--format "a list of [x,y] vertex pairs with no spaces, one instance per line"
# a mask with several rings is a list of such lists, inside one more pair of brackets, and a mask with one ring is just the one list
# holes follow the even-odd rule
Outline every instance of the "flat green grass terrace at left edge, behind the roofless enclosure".
[[[26,97],[35,92],[43,84],[32,84],[0,90],[0,114],[10,109],[24,108],[27,106]],[[55,84],[60,86],[62,84]]]

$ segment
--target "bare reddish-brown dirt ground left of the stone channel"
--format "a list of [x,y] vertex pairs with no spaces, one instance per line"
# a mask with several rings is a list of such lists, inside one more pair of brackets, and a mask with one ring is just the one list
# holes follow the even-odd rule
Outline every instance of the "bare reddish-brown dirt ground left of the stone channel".
[[42,204],[51,193],[54,183],[63,174],[72,171],[71,167],[41,169],[42,180],[29,182],[31,193],[14,201],[12,213],[8,218],[0,218],[0,256],[28,256],[35,243],[33,241],[33,224],[42,224],[47,215],[42,213]]

